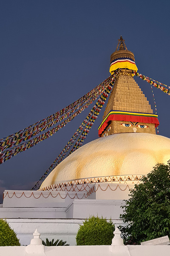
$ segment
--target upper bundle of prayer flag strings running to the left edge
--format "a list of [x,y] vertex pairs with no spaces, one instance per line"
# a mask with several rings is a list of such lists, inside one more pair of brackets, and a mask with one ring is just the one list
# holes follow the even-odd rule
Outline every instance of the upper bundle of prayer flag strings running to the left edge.
[[[103,93],[103,90],[105,90],[106,84],[111,79],[112,79],[112,76],[110,76],[108,79],[106,79],[101,84],[99,84],[97,87],[95,87],[93,90],[91,90],[89,93],[87,93],[84,98],[83,97],[80,98],[80,99],[82,99],[82,102],[80,102],[80,104],[77,106],[75,105],[74,109],[71,109],[69,111],[67,109],[67,111],[68,111],[67,113],[60,111],[60,112],[62,112],[62,116],[60,116],[59,118],[56,119],[56,116],[52,115],[53,116],[52,119],[50,119],[48,117],[45,122],[38,124],[37,127],[31,128],[30,134],[28,133],[30,130],[28,130],[28,131],[24,131],[23,133],[20,133],[17,135],[15,134],[16,135],[15,137],[8,136],[7,138],[5,138],[6,140],[4,140],[3,142],[0,143],[1,150],[2,150],[2,152],[0,154],[0,163],[4,163],[6,160],[9,160],[11,157],[17,155],[18,153],[20,153],[22,151],[26,151],[26,149],[31,148],[34,145],[37,145],[37,143],[39,143],[39,142],[47,139],[48,137],[52,136],[53,134],[55,134],[59,129],[64,127],[68,122],[71,122],[71,120],[73,120],[75,116],[77,116],[79,113],[84,111],[85,108],[87,108],[92,102],[94,102],[94,100],[96,100],[98,98],[98,96],[101,93]],[[80,101],[80,99],[78,101]],[[73,106],[74,103],[71,106]],[[65,118],[67,118],[67,119],[65,119]],[[55,128],[52,128],[51,130],[44,132],[43,134],[39,135],[38,137],[34,137],[35,135],[40,134],[41,132],[43,132],[46,129],[50,128],[51,126],[55,125],[57,122],[62,121],[63,119],[65,119],[65,120],[63,122],[61,122],[59,125],[57,125]],[[34,138],[32,140],[30,140],[32,137],[34,137]],[[25,142],[26,140],[28,140],[28,141]],[[25,143],[23,143],[23,142],[25,142]]]

